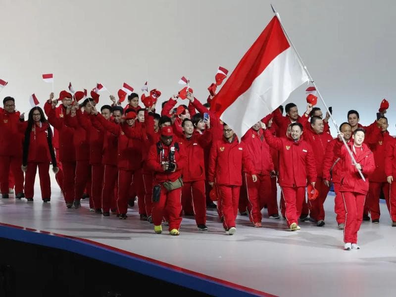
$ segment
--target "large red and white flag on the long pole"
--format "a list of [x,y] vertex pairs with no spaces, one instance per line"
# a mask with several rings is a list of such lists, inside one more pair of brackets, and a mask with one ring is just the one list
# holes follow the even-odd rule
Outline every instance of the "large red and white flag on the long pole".
[[308,80],[274,16],[213,98],[210,110],[242,137]]

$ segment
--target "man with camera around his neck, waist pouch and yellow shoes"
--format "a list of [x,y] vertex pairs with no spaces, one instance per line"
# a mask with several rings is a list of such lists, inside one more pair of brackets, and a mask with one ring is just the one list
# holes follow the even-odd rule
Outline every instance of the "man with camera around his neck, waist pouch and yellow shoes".
[[162,233],[161,222],[166,214],[170,235],[179,235],[182,222],[181,176],[187,157],[183,146],[173,141],[172,127],[165,126],[160,131],[160,141],[150,147],[147,157],[148,168],[154,172],[152,222],[155,233]]

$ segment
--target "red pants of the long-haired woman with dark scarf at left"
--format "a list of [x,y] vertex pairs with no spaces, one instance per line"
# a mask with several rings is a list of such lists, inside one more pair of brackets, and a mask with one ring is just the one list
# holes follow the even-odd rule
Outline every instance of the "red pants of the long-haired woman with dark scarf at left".
[[34,197],[34,181],[36,179],[37,167],[39,167],[41,198],[51,198],[51,182],[49,179],[49,162],[28,162],[28,168],[25,174],[25,197]]

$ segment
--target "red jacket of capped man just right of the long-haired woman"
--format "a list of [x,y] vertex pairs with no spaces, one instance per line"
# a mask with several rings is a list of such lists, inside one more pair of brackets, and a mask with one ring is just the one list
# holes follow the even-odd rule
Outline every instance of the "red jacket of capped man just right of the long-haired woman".
[[[44,108],[48,109],[51,104],[46,102]],[[64,116],[66,113],[64,114]],[[48,121],[59,132],[59,159],[61,162],[75,162],[76,161],[76,148],[72,141],[74,129],[68,127],[64,123],[64,117],[57,118],[55,109],[52,107],[49,110]]]

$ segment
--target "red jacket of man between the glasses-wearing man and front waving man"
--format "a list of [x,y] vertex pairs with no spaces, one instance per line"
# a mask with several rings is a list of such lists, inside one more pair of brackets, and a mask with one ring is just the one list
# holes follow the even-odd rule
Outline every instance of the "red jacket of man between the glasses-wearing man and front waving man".
[[250,159],[253,161],[255,174],[269,175],[271,170],[274,170],[274,163],[263,130],[260,128],[254,131],[250,128],[242,137],[242,142],[246,145]]

